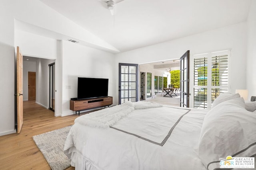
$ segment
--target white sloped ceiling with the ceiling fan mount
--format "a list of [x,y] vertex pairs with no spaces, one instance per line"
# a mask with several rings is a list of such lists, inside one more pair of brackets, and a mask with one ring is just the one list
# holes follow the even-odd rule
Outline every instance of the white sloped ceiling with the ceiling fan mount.
[[[121,52],[247,20],[251,0],[40,0]],[[120,0],[118,0],[120,1]]]

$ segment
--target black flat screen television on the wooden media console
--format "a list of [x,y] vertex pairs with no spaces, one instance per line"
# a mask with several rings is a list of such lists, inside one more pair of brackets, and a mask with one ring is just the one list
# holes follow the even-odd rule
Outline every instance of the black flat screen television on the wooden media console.
[[77,99],[101,98],[108,96],[107,78],[78,77]]

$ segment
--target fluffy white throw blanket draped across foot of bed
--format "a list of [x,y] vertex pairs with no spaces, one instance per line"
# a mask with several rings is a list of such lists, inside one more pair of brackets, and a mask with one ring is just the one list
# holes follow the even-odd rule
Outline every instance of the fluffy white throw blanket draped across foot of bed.
[[94,111],[86,115],[82,115],[75,119],[75,123],[90,127],[107,128],[114,125],[120,119],[131,113],[134,109],[146,109],[153,107],[162,107],[161,104],[153,102],[125,102],[122,105],[108,107],[99,111]]

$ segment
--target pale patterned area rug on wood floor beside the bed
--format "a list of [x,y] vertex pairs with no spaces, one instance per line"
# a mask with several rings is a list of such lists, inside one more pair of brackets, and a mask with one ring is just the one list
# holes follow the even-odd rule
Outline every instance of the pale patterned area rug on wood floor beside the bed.
[[64,170],[71,166],[71,160],[63,152],[70,127],[67,126],[33,136],[36,146],[42,152],[52,170]]

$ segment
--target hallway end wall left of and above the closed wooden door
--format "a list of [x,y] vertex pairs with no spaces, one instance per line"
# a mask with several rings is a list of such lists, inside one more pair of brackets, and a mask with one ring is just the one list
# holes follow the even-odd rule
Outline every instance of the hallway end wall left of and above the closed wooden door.
[[23,101],[28,100],[28,72],[36,72],[36,61],[23,61]]

